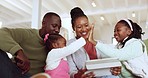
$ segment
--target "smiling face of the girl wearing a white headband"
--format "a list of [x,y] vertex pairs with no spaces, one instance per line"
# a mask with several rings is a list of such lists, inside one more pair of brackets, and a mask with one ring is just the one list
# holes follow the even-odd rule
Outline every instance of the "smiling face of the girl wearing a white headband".
[[123,23],[117,23],[114,29],[114,37],[117,42],[123,42],[123,40],[131,34],[131,29]]

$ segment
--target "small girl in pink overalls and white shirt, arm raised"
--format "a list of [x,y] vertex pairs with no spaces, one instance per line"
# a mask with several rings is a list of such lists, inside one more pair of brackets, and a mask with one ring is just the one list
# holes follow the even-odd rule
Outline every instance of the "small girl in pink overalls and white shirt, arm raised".
[[51,78],[70,78],[66,56],[84,46],[85,39],[81,37],[66,46],[66,40],[60,34],[47,34],[44,41],[50,51],[46,59],[45,73],[48,73]]

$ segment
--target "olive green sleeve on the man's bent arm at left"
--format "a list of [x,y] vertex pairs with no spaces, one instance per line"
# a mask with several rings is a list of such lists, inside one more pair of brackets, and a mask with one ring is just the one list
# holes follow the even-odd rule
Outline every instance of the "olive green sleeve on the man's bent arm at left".
[[23,41],[22,37],[25,36],[25,34],[22,35],[23,33],[15,29],[0,29],[0,49],[14,55],[18,50],[22,49],[19,43]]

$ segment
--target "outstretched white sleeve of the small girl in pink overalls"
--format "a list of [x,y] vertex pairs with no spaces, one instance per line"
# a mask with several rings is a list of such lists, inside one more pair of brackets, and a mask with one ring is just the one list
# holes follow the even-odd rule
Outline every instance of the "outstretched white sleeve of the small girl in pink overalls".
[[58,48],[58,49],[52,49],[52,52],[49,52],[47,55],[47,61],[50,60],[60,60],[74,52],[76,52],[78,49],[83,47],[85,45],[85,39],[79,38],[78,40],[74,41],[70,45],[64,47],[64,48]]

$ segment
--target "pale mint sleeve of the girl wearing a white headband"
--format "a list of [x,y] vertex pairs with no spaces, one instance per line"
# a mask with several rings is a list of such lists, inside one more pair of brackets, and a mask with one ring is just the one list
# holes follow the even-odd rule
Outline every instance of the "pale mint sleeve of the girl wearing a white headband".
[[110,47],[108,44],[97,42],[96,48],[109,57],[119,60],[129,60],[142,54],[142,44],[137,40],[125,45],[121,49]]

